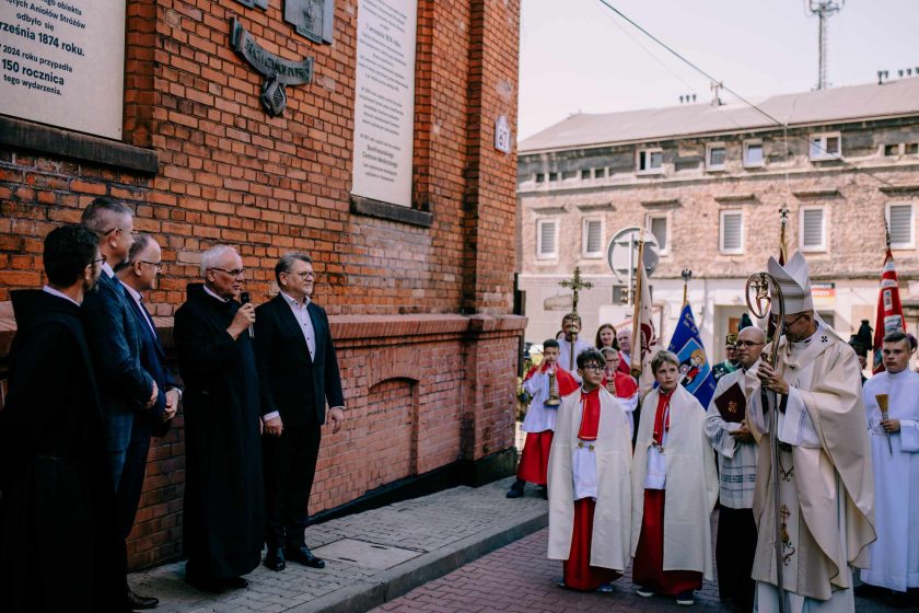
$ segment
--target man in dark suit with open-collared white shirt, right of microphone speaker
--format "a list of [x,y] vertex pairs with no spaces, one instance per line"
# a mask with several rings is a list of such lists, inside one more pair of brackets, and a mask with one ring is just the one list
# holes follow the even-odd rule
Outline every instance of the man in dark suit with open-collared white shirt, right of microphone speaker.
[[282,570],[287,558],[324,568],[325,562],[306,547],[303,532],[326,401],[333,433],[345,420],[341,378],[328,316],[310,300],[312,259],[306,254],[286,255],[275,266],[275,277],[281,291],[256,309],[255,323],[265,423],[265,566]]

